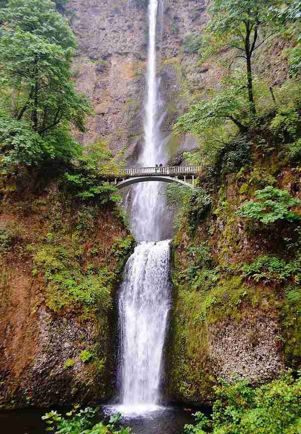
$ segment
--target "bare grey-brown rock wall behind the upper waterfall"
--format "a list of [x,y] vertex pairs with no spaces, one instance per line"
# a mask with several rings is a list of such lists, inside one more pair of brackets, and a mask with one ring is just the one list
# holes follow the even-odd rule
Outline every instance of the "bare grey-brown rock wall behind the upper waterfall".
[[[199,55],[190,41],[202,35],[208,22],[208,0],[164,0],[162,42],[158,42],[161,64],[161,93],[166,106],[163,134],[169,138],[172,159],[181,150],[195,147],[193,137],[172,137],[171,129],[189,104],[217,88],[222,70],[214,60],[198,64]],[[69,3],[71,25],[79,47],[74,59],[74,79],[78,90],[91,99],[95,114],[90,118],[83,143],[106,140],[114,151],[133,164],[143,145],[143,103],[147,56],[147,1],[96,0]],[[161,32],[161,26],[158,26]],[[160,39],[160,38],[158,38]],[[283,66],[285,44],[275,40],[262,47],[258,58],[266,59],[266,69],[257,71],[270,84],[287,76]],[[264,62],[262,62],[264,63]]]

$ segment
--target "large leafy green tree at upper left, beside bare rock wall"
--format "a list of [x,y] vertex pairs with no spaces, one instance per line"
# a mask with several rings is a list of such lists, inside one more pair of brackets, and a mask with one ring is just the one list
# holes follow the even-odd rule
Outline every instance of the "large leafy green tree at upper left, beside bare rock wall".
[[55,4],[9,0],[0,23],[0,85],[15,91],[12,116],[41,136],[66,122],[85,131],[90,106],[70,72],[76,41]]

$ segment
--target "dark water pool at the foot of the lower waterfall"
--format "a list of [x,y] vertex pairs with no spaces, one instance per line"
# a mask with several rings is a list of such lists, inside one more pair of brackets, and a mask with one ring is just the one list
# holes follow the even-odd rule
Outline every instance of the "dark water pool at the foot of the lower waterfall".
[[[30,408],[0,412],[1,434],[46,434],[41,416],[48,410]],[[61,413],[64,410],[59,409]],[[67,410],[66,410],[67,411]],[[103,407],[99,420],[120,411],[117,407]],[[196,411],[196,410],[194,410]],[[193,411],[181,407],[158,407],[142,414],[123,412],[121,425],[130,426],[133,434],[182,434],[185,423],[193,422]]]

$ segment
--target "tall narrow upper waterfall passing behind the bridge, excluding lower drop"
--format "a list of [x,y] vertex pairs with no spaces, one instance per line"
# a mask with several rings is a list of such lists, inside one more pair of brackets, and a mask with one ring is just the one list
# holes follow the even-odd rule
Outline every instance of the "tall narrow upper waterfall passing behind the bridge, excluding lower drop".
[[[157,24],[163,19],[163,0],[149,0],[148,5],[148,56],[146,76],[146,101],[144,114],[144,147],[138,159],[141,167],[165,163],[160,133],[161,96],[160,78],[157,76]],[[162,24],[160,23],[160,27]],[[159,32],[162,37],[162,29]],[[161,41],[160,41],[161,44]],[[132,232],[138,241],[159,241],[164,234],[166,203],[159,182],[145,182],[132,188]]]

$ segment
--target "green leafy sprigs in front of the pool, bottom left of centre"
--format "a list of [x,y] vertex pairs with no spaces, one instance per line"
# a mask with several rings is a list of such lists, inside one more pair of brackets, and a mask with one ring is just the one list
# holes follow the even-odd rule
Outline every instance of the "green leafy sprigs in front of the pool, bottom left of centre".
[[108,424],[104,422],[95,423],[98,408],[87,407],[78,410],[79,406],[66,413],[65,416],[57,411],[50,411],[42,416],[46,421],[48,430],[54,434],[129,434],[130,428],[116,429],[116,423],[120,420],[120,413],[111,416]]

